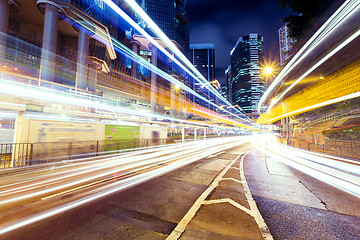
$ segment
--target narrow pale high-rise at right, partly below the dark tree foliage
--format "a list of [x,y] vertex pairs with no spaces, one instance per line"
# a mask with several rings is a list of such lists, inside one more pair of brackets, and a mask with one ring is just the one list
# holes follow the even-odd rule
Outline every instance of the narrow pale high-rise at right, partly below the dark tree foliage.
[[279,30],[280,66],[283,66],[292,56],[291,49],[295,43],[289,34],[289,23],[285,23]]

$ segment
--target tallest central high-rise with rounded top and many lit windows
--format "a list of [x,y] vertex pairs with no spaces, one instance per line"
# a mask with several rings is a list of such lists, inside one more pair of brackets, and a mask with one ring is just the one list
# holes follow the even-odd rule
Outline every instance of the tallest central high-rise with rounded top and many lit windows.
[[257,105],[265,91],[265,83],[260,76],[263,37],[256,33],[240,37],[230,55],[232,104],[257,117]]

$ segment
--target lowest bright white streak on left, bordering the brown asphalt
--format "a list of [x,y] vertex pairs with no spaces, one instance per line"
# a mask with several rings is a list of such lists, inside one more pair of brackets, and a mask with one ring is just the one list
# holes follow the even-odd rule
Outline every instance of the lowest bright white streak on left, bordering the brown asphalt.
[[[143,183],[145,181],[151,180],[155,177],[163,175],[167,172],[175,170],[175,169],[182,167],[184,165],[187,165],[191,162],[194,162],[194,161],[202,159],[206,156],[209,156],[215,152],[219,152],[219,151],[237,146],[244,142],[248,142],[246,139],[244,139],[244,137],[232,138],[231,140],[230,139],[215,140],[212,142],[212,145],[216,146],[214,148],[209,149],[209,148],[204,147],[201,151],[198,151],[196,148],[194,148],[193,154],[184,155],[183,158],[181,158],[178,161],[173,162],[169,165],[164,165],[161,168],[156,168],[152,171],[144,172],[138,176],[132,176],[129,178],[125,178],[125,179],[122,179],[121,181],[115,181],[106,186],[100,186],[96,190],[91,190],[91,195],[88,195],[81,199],[76,199],[72,202],[67,202],[63,205],[56,206],[52,209],[47,209],[41,213],[35,213],[34,215],[29,216],[27,219],[18,220],[11,225],[9,225],[9,223],[7,223],[6,226],[2,226],[2,228],[0,229],[0,234],[4,234],[6,232],[15,230],[15,229],[23,227],[25,225],[34,223],[36,221],[40,221],[42,219],[54,216],[56,214],[68,211],[75,207],[79,207],[85,203],[89,203],[91,201],[98,200],[98,199],[108,196],[110,194],[116,193],[118,191],[127,189],[129,187],[135,186],[135,185]],[[169,160],[172,161],[171,159],[169,159]],[[94,193],[93,191],[96,191],[96,193]],[[48,200],[46,200],[46,201],[48,201]]]

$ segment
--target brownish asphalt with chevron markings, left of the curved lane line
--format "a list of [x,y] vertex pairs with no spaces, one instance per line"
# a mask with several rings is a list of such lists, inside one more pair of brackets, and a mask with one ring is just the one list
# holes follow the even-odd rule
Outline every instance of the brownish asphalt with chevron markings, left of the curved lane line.
[[263,223],[241,183],[241,156],[249,147],[219,151],[1,239],[263,239]]

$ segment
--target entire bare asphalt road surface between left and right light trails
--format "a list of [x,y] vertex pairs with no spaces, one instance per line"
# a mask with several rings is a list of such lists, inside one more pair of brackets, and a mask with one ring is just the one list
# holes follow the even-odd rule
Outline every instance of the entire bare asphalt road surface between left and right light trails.
[[265,156],[250,143],[240,143],[0,239],[356,240],[359,236],[359,198]]

